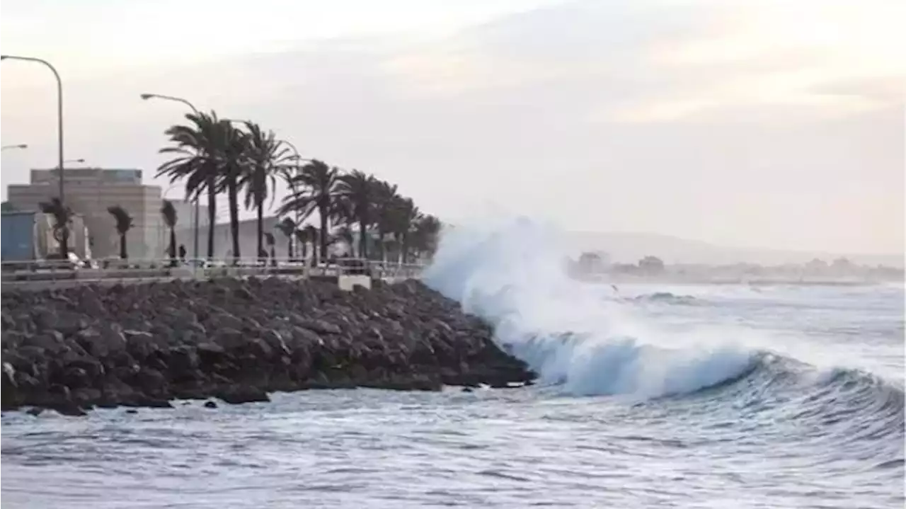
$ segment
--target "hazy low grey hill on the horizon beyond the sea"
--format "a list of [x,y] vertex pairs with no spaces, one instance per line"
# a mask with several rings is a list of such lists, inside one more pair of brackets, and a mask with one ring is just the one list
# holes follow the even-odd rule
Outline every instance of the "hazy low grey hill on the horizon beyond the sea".
[[612,261],[634,263],[643,256],[655,255],[668,264],[803,264],[814,258],[832,261],[841,256],[856,264],[903,267],[903,255],[866,255],[859,253],[821,253],[713,245],[670,235],[646,233],[569,232],[566,247],[576,255],[583,251],[604,251]]

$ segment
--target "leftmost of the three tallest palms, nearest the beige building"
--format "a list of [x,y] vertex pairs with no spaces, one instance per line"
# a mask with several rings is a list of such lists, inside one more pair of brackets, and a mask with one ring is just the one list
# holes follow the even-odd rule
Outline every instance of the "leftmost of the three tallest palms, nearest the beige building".
[[220,153],[223,121],[217,113],[189,113],[189,125],[175,125],[164,131],[171,147],[159,150],[174,154],[160,165],[158,177],[167,176],[170,182],[186,181],[186,197],[198,199],[207,193],[207,257],[214,258],[214,228],[217,225],[217,180],[221,171]]

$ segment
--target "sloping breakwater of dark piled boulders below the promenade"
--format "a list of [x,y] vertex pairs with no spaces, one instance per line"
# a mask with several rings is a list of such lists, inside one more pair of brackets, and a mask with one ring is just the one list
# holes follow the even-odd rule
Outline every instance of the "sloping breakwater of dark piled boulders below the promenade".
[[169,407],[268,392],[506,387],[534,377],[422,283],[280,279],[0,293],[0,410]]

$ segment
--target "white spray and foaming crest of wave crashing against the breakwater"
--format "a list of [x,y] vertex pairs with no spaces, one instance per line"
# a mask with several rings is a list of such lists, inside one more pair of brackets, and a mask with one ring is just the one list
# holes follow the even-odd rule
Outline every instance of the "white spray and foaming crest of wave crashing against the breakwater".
[[542,383],[576,395],[687,393],[752,369],[756,354],[735,345],[644,337],[600,287],[567,276],[559,236],[525,218],[458,226],[444,233],[424,280],[491,322]]

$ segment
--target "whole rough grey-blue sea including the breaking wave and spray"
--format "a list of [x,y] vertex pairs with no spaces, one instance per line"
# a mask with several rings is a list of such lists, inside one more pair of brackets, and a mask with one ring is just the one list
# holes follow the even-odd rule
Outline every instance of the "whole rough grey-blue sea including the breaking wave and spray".
[[901,508],[902,283],[583,283],[529,221],[445,235],[429,285],[516,389],[0,418],[0,507]]

